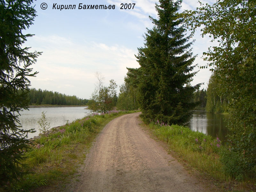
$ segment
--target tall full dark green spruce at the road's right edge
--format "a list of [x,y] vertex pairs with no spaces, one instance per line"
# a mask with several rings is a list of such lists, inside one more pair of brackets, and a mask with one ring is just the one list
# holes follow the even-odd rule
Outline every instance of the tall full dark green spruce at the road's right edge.
[[201,84],[186,86],[196,65],[192,66],[195,56],[189,49],[191,36],[185,36],[178,13],[181,2],[159,1],[158,19],[149,16],[154,27],[147,28],[145,46],[136,55],[140,68],[128,68],[127,75],[138,81],[141,116],[146,121],[184,124],[196,106],[190,98]]

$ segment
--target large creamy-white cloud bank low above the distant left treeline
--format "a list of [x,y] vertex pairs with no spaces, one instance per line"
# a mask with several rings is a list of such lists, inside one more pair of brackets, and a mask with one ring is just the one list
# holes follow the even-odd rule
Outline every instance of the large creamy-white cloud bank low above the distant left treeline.
[[37,89],[89,98],[94,90],[96,71],[106,77],[106,85],[110,79],[121,85],[126,67],[138,67],[134,56],[137,50],[118,44],[77,44],[61,36],[37,36],[33,41],[40,44],[36,49],[43,52],[33,65],[39,74],[31,78],[31,84]]

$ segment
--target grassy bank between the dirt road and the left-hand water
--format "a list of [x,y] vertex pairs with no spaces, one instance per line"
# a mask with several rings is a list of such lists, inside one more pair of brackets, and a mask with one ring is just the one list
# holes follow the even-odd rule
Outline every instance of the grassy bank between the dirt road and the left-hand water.
[[[102,128],[112,119],[136,111],[113,111],[105,115],[84,117],[70,124],[52,130],[46,136],[33,141],[32,148],[25,152],[27,174],[15,186],[4,191],[34,191],[46,185],[46,191],[52,191],[76,172],[77,165],[83,163],[92,141]],[[1,191],[1,187],[0,187]],[[39,189],[39,191],[42,191]]]

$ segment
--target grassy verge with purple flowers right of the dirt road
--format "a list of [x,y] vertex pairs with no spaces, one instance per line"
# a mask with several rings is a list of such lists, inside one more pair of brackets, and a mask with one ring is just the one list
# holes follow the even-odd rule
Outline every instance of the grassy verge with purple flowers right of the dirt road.
[[152,123],[149,127],[158,139],[168,143],[169,151],[174,156],[216,180],[223,190],[256,191],[255,174],[237,165],[237,154],[222,144],[219,138],[178,125],[161,126]]

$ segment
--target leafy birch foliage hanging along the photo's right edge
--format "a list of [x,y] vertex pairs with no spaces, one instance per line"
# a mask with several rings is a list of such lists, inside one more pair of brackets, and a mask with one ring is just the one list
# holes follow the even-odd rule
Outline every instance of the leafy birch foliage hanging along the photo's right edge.
[[231,150],[243,156],[241,164],[246,163],[255,175],[256,1],[217,0],[187,13],[193,30],[203,25],[202,36],[218,41],[218,46],[204,53],[204,59],[213,67],[220,96],[229,99]]

